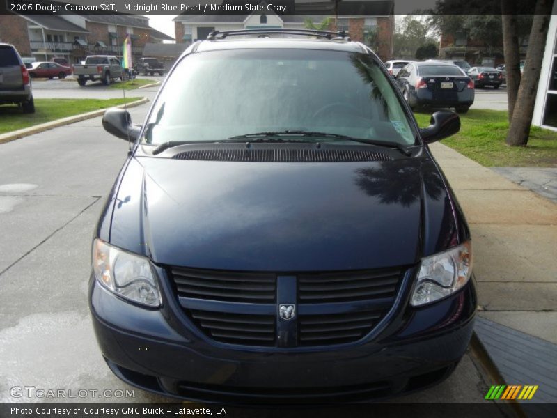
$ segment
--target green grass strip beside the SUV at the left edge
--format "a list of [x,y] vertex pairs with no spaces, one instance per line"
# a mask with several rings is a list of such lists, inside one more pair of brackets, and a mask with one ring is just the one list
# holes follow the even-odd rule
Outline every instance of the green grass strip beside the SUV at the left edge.
[[[134,102],[140,98],[127,98]],[[97,109],[123,104],[123,99],[36,99],[35,113],[24,114],[16,106],[0,106],[0,134],[23,129],[40,123],[54,121]]]

